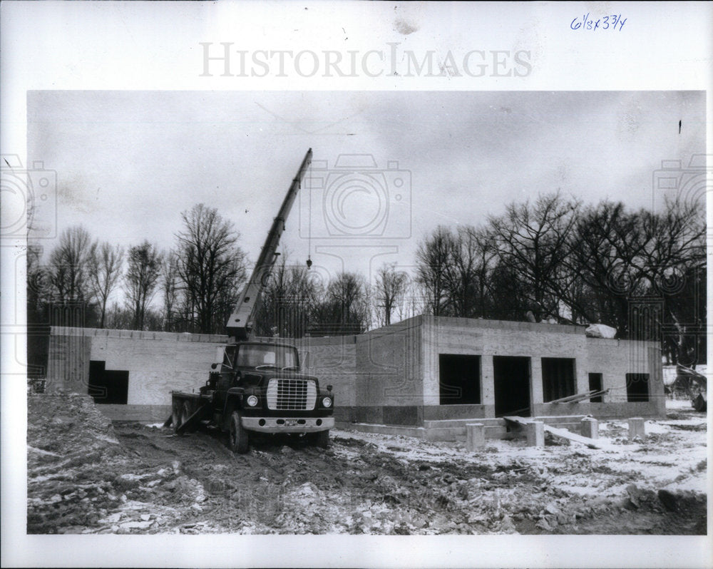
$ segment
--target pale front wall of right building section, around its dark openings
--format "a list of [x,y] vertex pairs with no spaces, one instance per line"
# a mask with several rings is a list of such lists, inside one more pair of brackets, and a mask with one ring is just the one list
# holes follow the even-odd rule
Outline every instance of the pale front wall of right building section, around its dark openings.
[[[423,317],[422,358],[424,417],[438,419],[495,416],[493,356],[530,359],[530,401],[537,416],[593,414],[595,416],[664,416],[665,396],[660,347],[656,342],[588,338],[585,327],[484,319]],[[438,354],[481,357],[481,406],[439,406]],[[542,358],[575,359],[575,393],[589,390],[589,374],[602,374],[602,387],[611,389],[603,404],[545,404]],[[649,374],[650,401],[628,403],[627,373]],[[470,409],[466,409],[470,408]]]

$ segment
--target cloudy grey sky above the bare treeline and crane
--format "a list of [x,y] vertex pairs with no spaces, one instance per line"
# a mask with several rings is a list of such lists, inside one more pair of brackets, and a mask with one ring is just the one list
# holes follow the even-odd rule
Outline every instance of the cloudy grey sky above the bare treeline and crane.
[[57,172],[59,230],[125,246],[172,247],[180,212],[205,203],[255,260],[311,147],[282,245],[327,276],[410,266],[437,225],[480,225],[538,193],[651,207],[654,170],[704,153],[706,126],[691,91],[32,91],[27,107],[28,158]]

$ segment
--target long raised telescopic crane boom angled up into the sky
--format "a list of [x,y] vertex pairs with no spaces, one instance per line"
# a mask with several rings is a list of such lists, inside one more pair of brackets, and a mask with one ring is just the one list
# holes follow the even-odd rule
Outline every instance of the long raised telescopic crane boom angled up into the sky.
[[257,307],[259,306],[262,289],[265,288],[267,280],[270,278],[272,265],[275,264],[279,238],[284,231],[284,222],[287,220],[289,210],[292,209],[292,204],[294,203],[294,198],[297,197],[297,191],[302,183],[302,178],[304,178],[304,173],[311,162],[312,148],[307,150],[307,154],[302,160],[302,165],[299,167],[294,180],[292,180],[292,184],[287,190],[287,195],[284,196],[282,207],[279,208],[277,217],[272,220],[272,227],[267,233],[265,245],[262,246],[260,257],[257,258],[255,263],[255,269],[252,270],[250,280],[245,285],[245,288],[242,289],[237,305],[227,321],[227,334],[232,342],[247,340],[252,334],[255,312],[257,312]]

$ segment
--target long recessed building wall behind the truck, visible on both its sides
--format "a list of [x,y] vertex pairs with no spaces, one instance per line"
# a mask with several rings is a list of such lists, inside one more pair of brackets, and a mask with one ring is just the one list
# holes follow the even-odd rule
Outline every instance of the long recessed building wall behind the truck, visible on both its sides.
[[[197,390],[208,379],[210,364],[225,342],[227,336],[211,334],[53,327],[47,389],[87,393],[89,362],[103,361],[107,370],[129,372],[127,405],[107,405],[111,416],[158,417],[170,406],[171,391]],[[284,342],[297,347],[301,362],[307,364],[304,373],[317,376],[325,387],[334,386],[338,406],[355,404],[354,336]]]

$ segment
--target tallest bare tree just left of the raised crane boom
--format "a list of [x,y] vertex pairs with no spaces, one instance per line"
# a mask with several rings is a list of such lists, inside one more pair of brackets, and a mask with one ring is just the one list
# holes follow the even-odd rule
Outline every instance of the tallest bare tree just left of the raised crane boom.
[[215,208],[202,203],[181,214],[178,275],[185,302],[195,311],[199,332],[215,333],[225,326],[238,288],[245,280],[245,253],[237,247],[240,234]]

